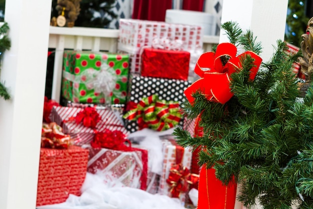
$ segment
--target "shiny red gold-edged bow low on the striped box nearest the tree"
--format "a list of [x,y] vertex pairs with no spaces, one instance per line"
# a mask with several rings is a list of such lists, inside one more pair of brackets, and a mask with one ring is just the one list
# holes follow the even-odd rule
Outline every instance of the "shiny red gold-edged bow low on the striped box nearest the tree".
[[166,182],[169,184],[172,197],[179,197],[180,193],[188,191],[189,184],[195,184],[199,180],[196,174],[190,174],[188,168],[181,164],[174,164],[169,170]]

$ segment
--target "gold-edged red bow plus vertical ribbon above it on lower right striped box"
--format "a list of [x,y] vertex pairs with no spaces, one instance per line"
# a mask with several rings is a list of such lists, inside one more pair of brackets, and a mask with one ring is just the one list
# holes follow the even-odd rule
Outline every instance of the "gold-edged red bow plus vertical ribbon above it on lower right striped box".
[[188,191],[189,184],[197,183],[199,176],[197,174],[191,174],[188,168],[182,166],[184,148],[179,146],[175,140],[170,141],[176,147],[176,164],[171,166],[166,183],[170,186],[169,192],[171,196],[179,197],[181,193]]

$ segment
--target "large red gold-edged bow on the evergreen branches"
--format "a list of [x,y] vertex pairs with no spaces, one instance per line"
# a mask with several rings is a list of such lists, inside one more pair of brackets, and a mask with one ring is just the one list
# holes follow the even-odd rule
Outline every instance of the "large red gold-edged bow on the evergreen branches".
[[[219,44],[216,53],[202,54],[194,68],[201,78],[191,84],[185,91],[186,98],[192,104],[192,94],[200,90],[207,100],[225,104],[233,94],[230,92],[230,75],[242,68],[241,60],[249,55],[254,59],[249,78],[254,79],[262,59],[254,52],[247,51],[236,57],[237,48],[230,43]],[[206,70],[208,69],[208,70]]]

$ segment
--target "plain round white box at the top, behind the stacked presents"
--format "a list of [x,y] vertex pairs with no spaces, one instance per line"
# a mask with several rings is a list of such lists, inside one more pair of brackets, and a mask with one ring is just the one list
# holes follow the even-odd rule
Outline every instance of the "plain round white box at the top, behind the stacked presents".
[[209,13],[188,10],[166,10],[166,23],[201,26],[204,35],[215,35],[215,16]]

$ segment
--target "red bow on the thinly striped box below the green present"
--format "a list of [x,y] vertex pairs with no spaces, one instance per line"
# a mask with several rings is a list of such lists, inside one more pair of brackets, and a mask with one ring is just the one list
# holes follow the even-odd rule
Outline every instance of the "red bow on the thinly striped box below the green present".
[[85,127],[90,127],[94,129],[96,124],[100,121],[101,117],[94,107],[86,107],[78,112],[74,119],[76,121],[76,124],[82,122]]

